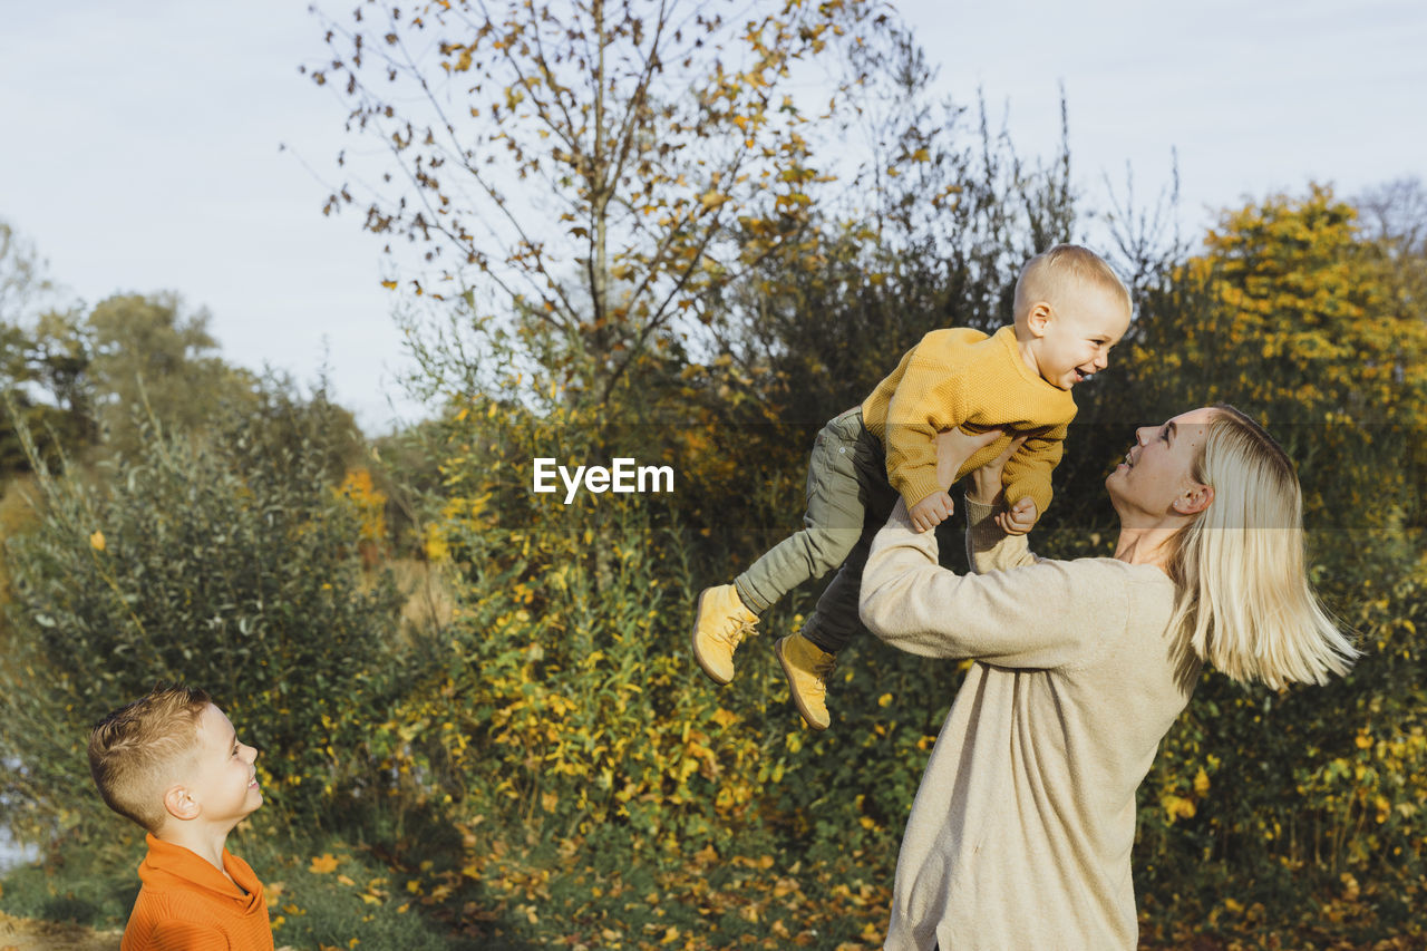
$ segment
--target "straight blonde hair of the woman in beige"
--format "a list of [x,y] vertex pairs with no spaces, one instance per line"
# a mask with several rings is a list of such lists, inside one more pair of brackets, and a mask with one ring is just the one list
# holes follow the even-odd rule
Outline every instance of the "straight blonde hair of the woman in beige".
[[1213,408],[1192,476],[1214,497],[1174,538],[1170,627],[1233,680],[1277,690],[1346,674],[1359,650],[1309,585],[1293,463],[1251,418]]

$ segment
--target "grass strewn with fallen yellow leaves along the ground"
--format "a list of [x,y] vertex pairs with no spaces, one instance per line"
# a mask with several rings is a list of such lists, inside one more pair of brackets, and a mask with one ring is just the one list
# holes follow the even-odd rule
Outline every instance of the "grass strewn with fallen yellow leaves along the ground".
[[[73,837],[40,862],[11,870],[0,910],[24,918],[121,928],[138,881],[141,835]],[[890,867],[859,851],[828,861],[789,860],[773,842],[639,841],[628,830],[545,842],[528,830],[408,822],[391,850],[371,830],[295,841],[243,828],[228,840],[263,878],[278,948],[294,951],[571,951],[664,948],[838,948],[880,945]],[[890,858],[890,857],[885,857]],[[1144,951],[1408,951],[1424,947],[1407,911],[1417,887],[1287,908],[1222,901],[1160,907],[1142,897]],[[1177,898],[1177,895],[1176,895]],[[1388,902],[1390,904],[1390,902]],[[1396,908],[1396,905],[1394,905]],[[1391,921],[1390,921],[1391,918]]]

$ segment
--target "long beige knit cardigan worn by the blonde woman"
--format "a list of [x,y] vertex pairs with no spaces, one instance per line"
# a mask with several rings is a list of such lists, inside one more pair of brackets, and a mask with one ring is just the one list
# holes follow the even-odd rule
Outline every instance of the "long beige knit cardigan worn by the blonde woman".
[[966,508],[977,574],[938,567],[935,533],[899,503],[862,578],[878,637],[976,658],[912,804],[886,947],[1133,950],[1134,791],[1197,673],[1166,631],[1174,585],[1114,558],[1036,558]]

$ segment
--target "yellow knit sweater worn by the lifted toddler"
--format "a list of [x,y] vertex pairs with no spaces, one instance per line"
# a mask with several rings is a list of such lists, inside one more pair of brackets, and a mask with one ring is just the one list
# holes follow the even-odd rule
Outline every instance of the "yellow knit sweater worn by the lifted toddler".
[[966,460],[956,478],[1000,456],[1016,436],[1027,436],[1006,463],[1006,504],[1029,495],[1039,517],[1050,507],[1050,471],[1075,413],[1070,391],[1046,383],[1020,358],[1015,327],[990,337],[950,327],[926,334],[902,357],[862,404],[862,424],[886,448],[888,480],[909,508],[946,488],[936,484],[938,433],[953,426],[968,433],[1006,430]]

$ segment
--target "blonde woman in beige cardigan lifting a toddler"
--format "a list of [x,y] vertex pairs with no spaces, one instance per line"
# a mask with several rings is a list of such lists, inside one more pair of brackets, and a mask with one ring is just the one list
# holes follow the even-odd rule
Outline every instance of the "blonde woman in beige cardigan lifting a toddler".
[[[943,483],[992,438],[942,434]],[[1309,585],[1291,463],[1233,407],[1136,431],[1106,478],[1109,558],[1006,535],[1005,458],[966,494],[976,574],[939,567],[905,505],[863,574],[872,633],[975,660],[912,805],[886,947],[1134,948],[1134,792],[1202,664],[1279,688],[1346,674],[1357,650]]]

